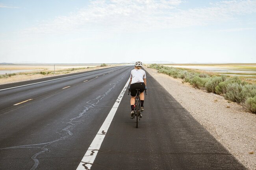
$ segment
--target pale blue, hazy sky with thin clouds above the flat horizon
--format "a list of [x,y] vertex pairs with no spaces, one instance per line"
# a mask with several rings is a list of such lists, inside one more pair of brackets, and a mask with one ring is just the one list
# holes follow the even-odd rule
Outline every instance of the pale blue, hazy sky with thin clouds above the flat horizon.
[[256,63],[256,0],[0,0],[0,63]]

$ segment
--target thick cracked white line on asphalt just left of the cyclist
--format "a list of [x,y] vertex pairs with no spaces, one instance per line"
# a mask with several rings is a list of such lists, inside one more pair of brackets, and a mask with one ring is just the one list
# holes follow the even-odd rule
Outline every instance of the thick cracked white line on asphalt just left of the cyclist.
[[130,82],[130,79],[126,82],[124,88],[122,89],[119,97],[115,101],[115,104],[113,105],[112,109],[108,113],[108,116],[106,117],[105,121],[103,122],[102,126],[100,127],[100,130],[96,134],[95,138],[93,139],[91,145],[89,146],[87,152],[82,158],[82,161],[76,168],[76,170],[89,170],[91,169],[91,166],[93,165],[93,162],[98,154],[98,151],[100,150],[100,146],[104,140],[104,137],[106,136],[106,133],[108,132],[108,128],[113,120],[113,117],[115,116],[115,112],[117,112],[117,108],[122,100],[122,97],[124,96],[124,93],[126,91],[126,88]]

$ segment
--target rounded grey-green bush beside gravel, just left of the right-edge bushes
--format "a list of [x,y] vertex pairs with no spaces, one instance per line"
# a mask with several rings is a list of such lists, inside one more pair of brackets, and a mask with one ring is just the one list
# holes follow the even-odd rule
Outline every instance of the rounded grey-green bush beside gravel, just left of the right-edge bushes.
[[228,84],[224,98],[233,102],[239,102],[240,92],[242,91],[243,85],[238,83]]

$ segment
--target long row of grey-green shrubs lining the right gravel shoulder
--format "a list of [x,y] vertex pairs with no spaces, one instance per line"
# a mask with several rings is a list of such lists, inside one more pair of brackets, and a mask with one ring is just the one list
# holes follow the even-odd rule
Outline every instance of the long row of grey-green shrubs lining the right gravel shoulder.
[[214,75],[184,68],[174,68],[151,64],[148,68],[157,69],[158,73],[183,79],[193,87],[224,96],[228,101],[241,104],[246,110],[256,113],[256,84],[241,80],[239,77]]

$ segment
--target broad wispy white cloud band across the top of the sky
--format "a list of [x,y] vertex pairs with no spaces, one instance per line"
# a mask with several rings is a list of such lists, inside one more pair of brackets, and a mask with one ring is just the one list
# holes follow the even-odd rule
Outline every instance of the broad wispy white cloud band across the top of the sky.
[[[163,28],[203,26],[236,20],[237,15],[256,12],[255,0],[231,0],[211,3],[209,7],[182,10],[182,0],[96,0],[69,16],[58,16],[30,33],[70,31],[147,31]],[[96,30],[97,31],[97,30]]]

